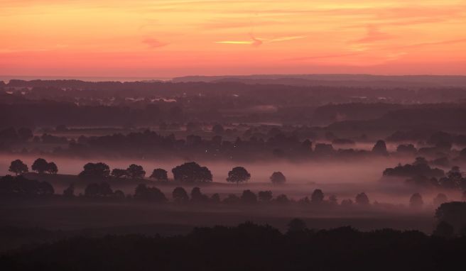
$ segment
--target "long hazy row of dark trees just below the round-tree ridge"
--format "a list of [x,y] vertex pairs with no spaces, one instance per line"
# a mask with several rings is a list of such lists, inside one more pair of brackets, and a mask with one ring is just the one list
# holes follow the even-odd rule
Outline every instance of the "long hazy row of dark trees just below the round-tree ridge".
[[[384,204],[374,201],[371,203],[366,193],[357,194],[354,199],[342,199],[339,201],[335,194],[325,195],[321,189],[315,189],[310,196],[300,199],[288,198],[286,194],[278,194],[274,197],[270,190],[253,192],[245,189],[241,194],[220,195],[203,194],[200,187],[193,187],[188,192],[183,187],[175,187],[171,194],[166,195],[158,187],[150,184],[140,183],[134,189],[133,194],[125,194],[119,189],[112,189],[108,182],[90,182],[82,193],[75,193],[75,185],[70,184],[63,190],[63,194],[54,194],[55,191],[48,182],[38,182],[26,179],[22,175],[12,177],[6,175],[0,178],[0,195],[4,198],[28,198],[38,197],[44,199],[75,199],[82,201],[125,201],[125,202],[147,202],[147,203],[173,203],[173,204],[299,204],[302,206],[314,206],[318,208],[354,208],[364,209],[371,206],[381,206],[383,208],[394,208],[391,204]],[[462,199],[466,201],[466,192],[462,194]],[[433,199],[433,205],[439,206],[448,202],[445,194],[439,193]],[[413,209],[421,209],[425,204],[423,197],[419,193],[414,193],[408,201],[408,206]]]

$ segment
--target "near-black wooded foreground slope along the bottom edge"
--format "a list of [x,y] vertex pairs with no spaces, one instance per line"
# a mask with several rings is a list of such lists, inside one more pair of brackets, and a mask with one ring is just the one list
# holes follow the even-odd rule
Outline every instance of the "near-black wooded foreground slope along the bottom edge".
[[[297,226],[297,227],[296,227]],[[0,258],[2,270],[454,270],[465,238],[349,227],[283,234],[270,226],[197,228],[187,236],[71,238]]]

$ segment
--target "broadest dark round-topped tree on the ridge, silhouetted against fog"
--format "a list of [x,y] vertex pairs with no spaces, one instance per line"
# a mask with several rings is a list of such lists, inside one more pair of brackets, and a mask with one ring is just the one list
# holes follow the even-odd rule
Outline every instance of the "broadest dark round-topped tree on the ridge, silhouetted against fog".
[[178,182],[212,182],[212,173],[207,167],[201,167],[196,162],[185,162],[174,167],[173,179]]

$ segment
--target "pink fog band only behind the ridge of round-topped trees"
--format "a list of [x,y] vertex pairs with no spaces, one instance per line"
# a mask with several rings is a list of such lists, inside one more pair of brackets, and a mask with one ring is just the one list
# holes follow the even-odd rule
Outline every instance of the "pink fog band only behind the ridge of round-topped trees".
[[[40,156],[40,155],[39,155]],[[37,155],[1,155],[0,156],[0,175],[11,174],[8,167],[11,160],[21,159],[26,165],[33,164],[39,156]],[[77,175],[82,171],[83,165],[87,162],[105,162],[111,169],[126,168],[131,164],[142,165],[146,170],[146,177],[151,175],[153,169],[161,167],[169,172],[177,165],[188,162],[185,160],[109,160],[109,159],[78,159],[67,157],[53,157],[48,155],[40,156],[46,160],[55,162],[58,166],[58,172],[65,175]],[[347,161],[309,161],[309,162],[199,162],[201,165],[210,169],[214,182],[226,182],[229,170],[232,167],[242,166],[251,173],[249,182],[270,182],[269,177],[273,172],[281,171],[286,175],[287,183],[306,184],[306,183],[364,183],[376,182],[381,177],[381,172],[386,167],[392,167],[399,162],[411,162],[411,159],[394,158],[394,157],[372,157],[370,159],[357,160],[354,162]]]

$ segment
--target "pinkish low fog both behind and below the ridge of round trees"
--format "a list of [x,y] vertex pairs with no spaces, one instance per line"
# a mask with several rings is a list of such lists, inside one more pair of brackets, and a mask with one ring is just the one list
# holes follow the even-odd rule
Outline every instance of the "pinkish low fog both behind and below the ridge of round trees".
[[[21,159],[28,165],[31,170],[31,165],[36,156],[0,156],[0,175],[9,174],[8,167],[11,160]],[[168,171],[169,178],[171,169],[177,165],[182,164],[183,160],[109,160],[109,159],[95,159],[83,160],[65,157],[48,157],[43,156],[48,161],[53,161],[58,166],[58,173],[64,175],[77,175],[82,170],[82,166],[87,162],[105,162],[111,169],[113,168],[126,168],[132,163],[142,165],[146,170],[146,177],[151,175],[153,169],[161,167]],[[240,194],[244,189],[251,189],[253,192],[260,190],[271,190],[274,196],[278,194],[286,194],[293,199],[300,199],[303,197],[310,197],[313,189],[323,189],[325,196],[335,194],[337,199],[353,199],[357,193],[365,192],[371,202],[379,201],[392,204],[408,204],[411,194],[414,192],[421,192],[424,197],[424,202],[430,204],[433,197],[438,192],[418,191],[413,187],[407,187],[400,182],[380,182],[382,172],[386,167],[394,167],[399,162],[406,163],[412,162],[412,158],[399,158],[399,157],[380,157],[380,158],[367,158],[364,160],[354,160],[354,162],[342,161],[312,161],[312,162],[252,162],[242,164],[240,162],[199,162],[202,166],[207,166],[214,177],[214,182],[220,184],[227,184],[226,178],[229,170],[232,167],[243,166],[251,174],[251,179],[248,184],[229,184],[229,185],[215,185],[204,186],[200,185],[202,192],[205,194],[220,193],[226,197],[229,193]],[[271,184],[269,177],[272,172],[281,171],[286,176],[287,181],[284,185]],[[126,193],[133,193],[134,186],[122,186],[117,182],[110,183],[112,188],[121,189]],[[61,193],[67,183],[63,186],[54,183],[55,192]],[[191,189],[198,184],[185,184],[185,189]],[[158,187],[168,196],[173,191],[173,187],[167,185],[158,185]],[[82,192],[83,187],[77,186],[76,192]],[[189,191],[188,191],[189,192]],[[460,199],[460,192],[446,193],[449,199]]]

